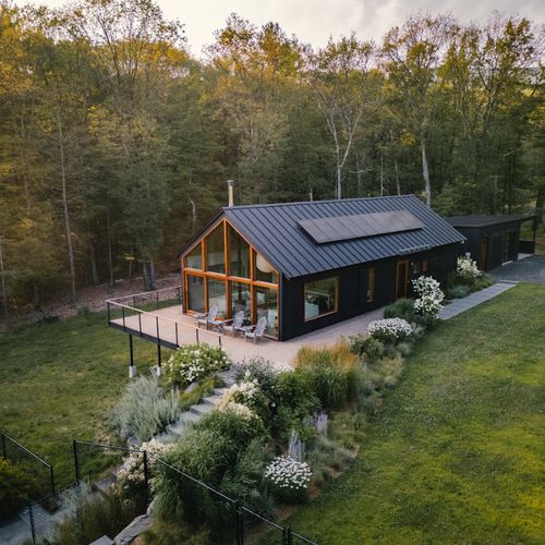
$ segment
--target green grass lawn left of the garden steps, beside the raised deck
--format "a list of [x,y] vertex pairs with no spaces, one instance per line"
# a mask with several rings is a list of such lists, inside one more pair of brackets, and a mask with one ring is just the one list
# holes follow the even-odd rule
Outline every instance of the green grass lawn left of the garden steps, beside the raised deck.
[[[134,349],[146,372],[155,346],[135,339]],[[59,485],[74,479],[72,439],[119,444],[106,413],[128,382],[129,336],[105,314],[2,334],[0,354],[0,428],[52,463]]]

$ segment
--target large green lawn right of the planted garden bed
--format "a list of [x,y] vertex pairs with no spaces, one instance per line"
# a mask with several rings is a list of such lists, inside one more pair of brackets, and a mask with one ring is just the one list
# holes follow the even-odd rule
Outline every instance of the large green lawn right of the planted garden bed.
[[358,460],[289,523],[320,544],[545,543],[545,286],[440,325]]

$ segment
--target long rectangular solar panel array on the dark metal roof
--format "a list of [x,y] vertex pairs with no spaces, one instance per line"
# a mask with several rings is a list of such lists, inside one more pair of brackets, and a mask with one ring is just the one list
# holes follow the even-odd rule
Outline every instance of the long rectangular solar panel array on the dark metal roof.
[[405,209],[302,219],[298,223],[318,244],[399,233],[424,227],[414,214]]

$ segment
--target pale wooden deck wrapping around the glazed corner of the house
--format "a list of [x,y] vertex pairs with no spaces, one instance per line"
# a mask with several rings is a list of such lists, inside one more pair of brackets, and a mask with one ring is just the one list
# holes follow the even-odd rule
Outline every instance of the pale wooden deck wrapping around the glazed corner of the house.
[[[219,335],[204,328],[198,330],[198,340],[213,346],[221,343],[223,350],[234,362],[261,355],[275,363],[291,364],[301,347],[328,346],[335,343],[341,336],[365,332],[367,325],[382,316],[383,308],[378,308],[283,342],[262,339],[254,344],[252,341],[244,341],[240,337],[233,338],[228,335]],[[192,316],[183,314],[180,305],[160,308],[150,313],[125,315],[124,320],[123,318],[112,318],[109,324],[116,329],[142,337],[154,343],[158,342],[162,347],[171,349],[181,344],[194,343],[197,335]]]

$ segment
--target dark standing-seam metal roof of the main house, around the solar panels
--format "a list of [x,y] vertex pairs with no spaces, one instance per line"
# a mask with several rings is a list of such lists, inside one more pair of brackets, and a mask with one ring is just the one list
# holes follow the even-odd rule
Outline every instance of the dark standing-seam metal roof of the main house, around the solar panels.
[[[317,244],[300,221],[409,210],[422,229]],[[464,241],[414,195],[223,208],[229,222],[287,278],[312,275]]]

